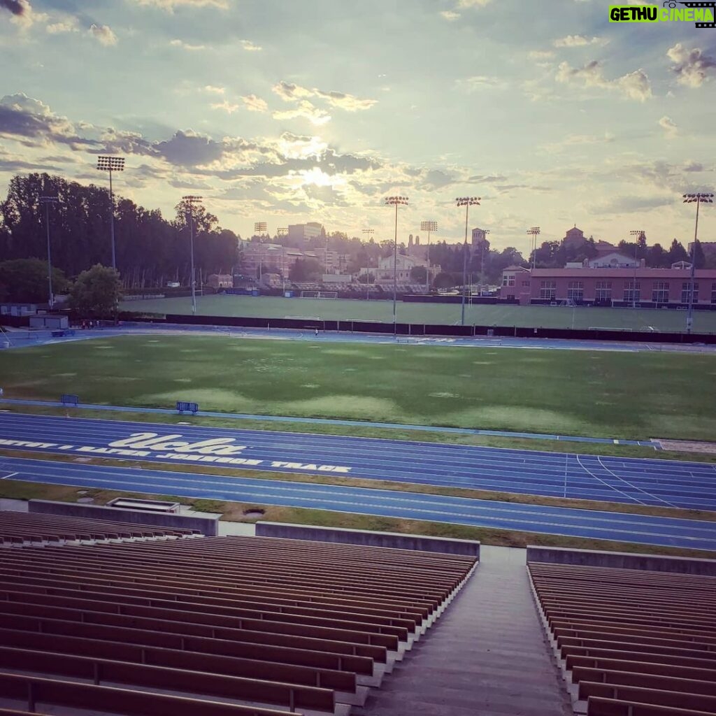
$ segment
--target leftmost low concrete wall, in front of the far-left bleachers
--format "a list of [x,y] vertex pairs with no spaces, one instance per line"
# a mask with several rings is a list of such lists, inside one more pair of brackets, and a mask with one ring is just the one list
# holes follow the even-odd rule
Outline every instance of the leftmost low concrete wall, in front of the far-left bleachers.
[[84,517],[92,520],[115,520],[117,522],[130,522],[135,525],[155,525],[198,530],[207,537],[216,537],[218,535],[218,517],[190,517],[169,513],[155,514],[140,510],[125,510],[102,505],[77,505],[72,502],[52,502],[51,500],[30,500],[28,511],[46,515]]

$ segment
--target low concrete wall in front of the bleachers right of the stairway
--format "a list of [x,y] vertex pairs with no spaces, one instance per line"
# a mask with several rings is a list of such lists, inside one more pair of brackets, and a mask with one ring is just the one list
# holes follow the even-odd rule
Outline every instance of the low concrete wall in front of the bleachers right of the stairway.
[[598,552],[589,549],[528,546],[527,561],[716,576],[716,559],[690,559],[688,557],[668,557],[658,554]]

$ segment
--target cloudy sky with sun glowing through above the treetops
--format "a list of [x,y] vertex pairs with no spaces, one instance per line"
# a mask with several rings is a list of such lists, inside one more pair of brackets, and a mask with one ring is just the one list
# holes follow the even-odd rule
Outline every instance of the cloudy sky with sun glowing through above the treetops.
[[[716,189],[716,29],[610,23],[613,0],[0,0],[0,195],[16,173],[251,236],[326,231],[528,253],[528,228],[684,245]],[[642,5],[641,0],[627,0]],[[716,241],[716,205],[702,207]]]

